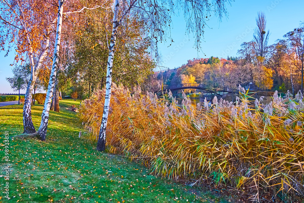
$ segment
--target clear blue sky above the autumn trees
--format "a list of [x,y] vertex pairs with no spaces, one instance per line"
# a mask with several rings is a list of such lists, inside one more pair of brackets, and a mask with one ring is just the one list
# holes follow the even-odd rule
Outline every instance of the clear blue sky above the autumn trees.
[[[228,18],[222,22],[213,16],[205,29],[205,42],[202,42],[202,51],[197,52],[193,36],[185,35],[185,20],[183,16],[173,17],[171,35],[174,43],[161,43],[159,51],[164,61],[163,66],[168,68],[179,67],[193,58],[209,58],[237,56],[237,50],[244,41],[253,39],[255,18],[258,11],[264,11],[267,19],[267,29],[270,30],[268,44],[282,39],[287,32],[298,27],[304,21],[303,0],[235,0],[227,5]],[[205,56],[206,54],[206,56]],[[6,77],[12,76],[14,53],[4,57],[0,52],[0,93],[12,93]],[[25,90],[23,90],[25,92]]]

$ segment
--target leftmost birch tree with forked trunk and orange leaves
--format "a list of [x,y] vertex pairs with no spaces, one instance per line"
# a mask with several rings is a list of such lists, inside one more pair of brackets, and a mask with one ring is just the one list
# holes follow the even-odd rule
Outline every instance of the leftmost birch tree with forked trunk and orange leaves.
[[[29,60],[31,78],[23,107],[23,133],[35,133],[31,117],[32,91],[49,50],[52,9],[43,1],[16,0],[0,2],[0,41],[2,50],[16,50],[15,61]],[[25,59],[24,59],[25,58]]]

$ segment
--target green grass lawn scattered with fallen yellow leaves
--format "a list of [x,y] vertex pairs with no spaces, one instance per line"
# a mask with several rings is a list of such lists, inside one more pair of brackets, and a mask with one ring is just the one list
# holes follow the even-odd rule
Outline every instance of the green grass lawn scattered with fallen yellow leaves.
[[[95,150],[96,143],[78,138],[81,123],[67,110],[80,101],[60,101],[60,113],[51,111],[46,142],[21,138],[22,106],[0,107],[0,142],[9,132],[9,161],[1,146],[1,202],[217,202],[181,183],[156,177],[149,169],[121,156]],[[42,105],[32,107],[33,123],[40,125]],[[4,163],[10,163],[4,180]],[[5,185],[9,182],[9,197]],[[197,194],[199,193],[199,196]]]

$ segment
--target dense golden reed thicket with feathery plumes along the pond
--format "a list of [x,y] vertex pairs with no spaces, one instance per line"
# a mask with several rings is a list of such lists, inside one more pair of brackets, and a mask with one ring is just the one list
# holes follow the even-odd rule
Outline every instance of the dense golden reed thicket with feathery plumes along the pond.
[[[79,118],[96,140],[105,90],[84,101]],[[154,173],[174,180],[209,177],[215,184],[250,187],[252,199],[303,196],[303,96],[284,100],[277,92],[261,104],[241,90],[237,102],[213,99],[193,107],[178,105],[171,92],[112,87],[107,149],[148,163]]]

